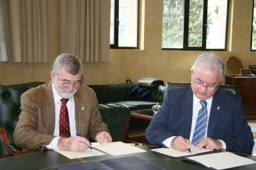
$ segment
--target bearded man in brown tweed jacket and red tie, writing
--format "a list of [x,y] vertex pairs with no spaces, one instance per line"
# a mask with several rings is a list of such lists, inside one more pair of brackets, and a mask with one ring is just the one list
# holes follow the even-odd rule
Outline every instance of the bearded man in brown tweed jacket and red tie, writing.
[[52,81],[22,94],[22,111],[13,134],[15,145],[24,151],[78,152],[88,149],[89,137],[100,144],[112,141],[101,120],[95,92],[81,84],[82,73],[78,57],[63,53],[54,61]]

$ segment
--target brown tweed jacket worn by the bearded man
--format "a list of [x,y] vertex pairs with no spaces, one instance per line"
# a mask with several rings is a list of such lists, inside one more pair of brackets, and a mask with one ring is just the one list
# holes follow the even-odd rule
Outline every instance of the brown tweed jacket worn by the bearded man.
[[[23,150],[44,150],[55,137],[55,107],[52,94],[52,81],[30,89],[20,97],[19,122],[13,139]],[[95,92],[82,85],[74,95],[76,131],[84,138],[95,140],[99,132],[108,132],[101,120]]]

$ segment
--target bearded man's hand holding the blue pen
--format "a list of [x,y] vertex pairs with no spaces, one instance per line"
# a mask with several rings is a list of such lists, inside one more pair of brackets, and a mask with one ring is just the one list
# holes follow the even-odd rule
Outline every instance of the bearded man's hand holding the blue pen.
[[70,138],[58,139],[57,147],[59,150],[68,150],[72,152],[79,152],[81,150],[87,150],[90,145],[90,141],[80,136],[73,136]]

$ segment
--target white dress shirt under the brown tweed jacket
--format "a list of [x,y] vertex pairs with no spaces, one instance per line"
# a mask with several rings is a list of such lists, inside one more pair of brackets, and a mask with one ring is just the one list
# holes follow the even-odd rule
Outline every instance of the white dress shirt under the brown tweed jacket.
[[[56,136],[54,139],[52,139],[51,143],[49,145],[45,145],[49,149],[58,149],[58,139],[60,139],[60,108],[61,108],[61,101],[62,97],[58,95],[55,88],[52,85],[52,92],[53,92],[53,98],[54,98],[54,106],[55,106],[55,128],[54,128],[54,136]],[[67,109],[68,109],[68,118],[69,118],[69,126],[70,126],[70,135],[76,136],[76,118],[75,118],[75,103],[74,103],[74,97],[71,97],[68,99],[67,102]]]

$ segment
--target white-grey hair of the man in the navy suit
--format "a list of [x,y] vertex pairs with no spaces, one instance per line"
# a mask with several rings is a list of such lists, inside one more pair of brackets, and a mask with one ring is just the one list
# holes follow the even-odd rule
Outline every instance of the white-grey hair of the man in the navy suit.
[[196,73],[196,68],[200,66],[204,69],[214,71],[220,71],[220,78],[222,78],[225,70],[224,62],[218,55],[214,53],[202,53],[199,55],[195,61],[193,71]]

